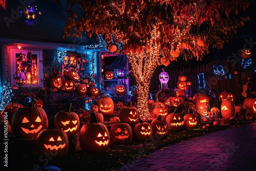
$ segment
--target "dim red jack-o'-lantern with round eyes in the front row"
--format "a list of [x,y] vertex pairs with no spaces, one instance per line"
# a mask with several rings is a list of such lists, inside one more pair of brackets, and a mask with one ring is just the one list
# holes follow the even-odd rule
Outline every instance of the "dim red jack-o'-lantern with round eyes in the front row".
[[113,144],[130,144],[133,132],[128,123],[115,123],[110,129],[110,141]]

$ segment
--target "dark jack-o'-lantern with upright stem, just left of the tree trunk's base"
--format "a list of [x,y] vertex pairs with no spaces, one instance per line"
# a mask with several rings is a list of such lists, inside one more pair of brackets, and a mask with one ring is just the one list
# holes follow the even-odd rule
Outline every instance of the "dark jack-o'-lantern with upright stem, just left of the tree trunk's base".
[[132,106],[132,102],[128,101],[127,106],[123,106],[123,108],[119,112],[119,119],[121,122],[126,122],[128,124],[135,124],[138,122],[138,110],[135,106]]

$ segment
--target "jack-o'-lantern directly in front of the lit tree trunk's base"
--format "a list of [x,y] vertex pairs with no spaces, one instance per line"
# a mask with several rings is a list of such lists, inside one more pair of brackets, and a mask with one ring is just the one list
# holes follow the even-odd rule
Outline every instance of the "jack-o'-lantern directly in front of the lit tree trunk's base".
[[134,126],[134,135],[137,140],[145,141],[152,137],[152,127],[149,123],[143,122],[140,118],[139,123]]

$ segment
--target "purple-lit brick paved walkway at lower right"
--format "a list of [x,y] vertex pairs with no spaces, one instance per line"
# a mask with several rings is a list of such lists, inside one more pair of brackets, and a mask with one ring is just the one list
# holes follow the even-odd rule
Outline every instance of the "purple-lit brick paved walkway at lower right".
[[169,145],[117,170],[256,170],[256,123]]

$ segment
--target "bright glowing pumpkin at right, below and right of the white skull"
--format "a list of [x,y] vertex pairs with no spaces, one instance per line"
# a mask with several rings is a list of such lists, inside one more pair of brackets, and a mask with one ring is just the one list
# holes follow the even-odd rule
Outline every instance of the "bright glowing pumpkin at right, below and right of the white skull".
[[196,110],[199,111],[209,108],[209,100],[210,98],[206,94],[197,93],[193,96],[192,102],[196,105]]

